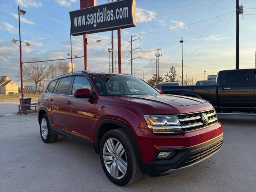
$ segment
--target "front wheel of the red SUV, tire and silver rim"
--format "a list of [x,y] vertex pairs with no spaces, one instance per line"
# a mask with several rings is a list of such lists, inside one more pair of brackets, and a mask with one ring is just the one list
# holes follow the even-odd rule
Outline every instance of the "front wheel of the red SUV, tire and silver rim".
[[122,129],[110,130],[100,142],[102,168],[114,184],[131,184],[142,176],[132,143]]

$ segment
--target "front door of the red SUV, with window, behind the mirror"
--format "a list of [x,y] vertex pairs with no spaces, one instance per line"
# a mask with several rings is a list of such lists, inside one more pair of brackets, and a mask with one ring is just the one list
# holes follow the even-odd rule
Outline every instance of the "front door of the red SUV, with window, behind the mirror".
[[92,86],[85,76],[75,76],[72,95],[67,96],[65,126],[68,132],[92,141],[94,103],[92,98],[75,98],[77,89],[87,88],[93,93]]

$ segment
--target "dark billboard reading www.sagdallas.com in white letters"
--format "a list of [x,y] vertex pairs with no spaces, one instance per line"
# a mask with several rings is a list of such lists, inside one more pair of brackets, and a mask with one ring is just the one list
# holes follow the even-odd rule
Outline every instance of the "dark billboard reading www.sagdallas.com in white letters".
[[120,0],[69,12],[70,34],[97,33],[136,26],[135,0]]

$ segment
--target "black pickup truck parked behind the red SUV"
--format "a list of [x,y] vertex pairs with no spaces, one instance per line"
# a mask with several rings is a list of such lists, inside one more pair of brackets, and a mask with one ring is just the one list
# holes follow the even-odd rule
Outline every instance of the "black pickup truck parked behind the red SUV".
[[216,85],[162,86],[161,93],[203,98],[218,112],[256,112],[256,69],[220,71]]

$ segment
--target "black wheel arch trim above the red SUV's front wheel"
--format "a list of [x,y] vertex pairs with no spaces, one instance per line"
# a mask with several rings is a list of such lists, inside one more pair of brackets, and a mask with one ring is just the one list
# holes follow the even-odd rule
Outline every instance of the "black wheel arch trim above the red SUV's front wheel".
[[102,120],[100,122],[100,124],[99,124],[99,126],[97,128],[96,142],[94,143],[94,150],[95,150],[95,152],[99,154],[99,152],[100,152],[100,136],[101,136],[101,133],[102,132],[106,133],[107,131],[104,130],[104,128],[106,127],[106,125],[110,125],[110,124],[112,126],[114,126],[114,128],[110,128],[107,131],[113,130],[113,129],[117,129],[117,128],[122,128],[126,132],[126,134],[128,135],[128,137],[131,140],[131,143],[132,143],[132,146],[133,146],[134,151],[136,153],[136,156],[138,157],[139,165],[140,165],[141,169],[143,170],[143,161],[142,161],[142,157],[141,157],[141,154],[140,154],[140,149],[138,147],[136,139],[135,139],[134,135],[132,134],[132,131],[130,130],[130,128],[124,122],[121,122],[119,120],[104,119],[104,120]]

